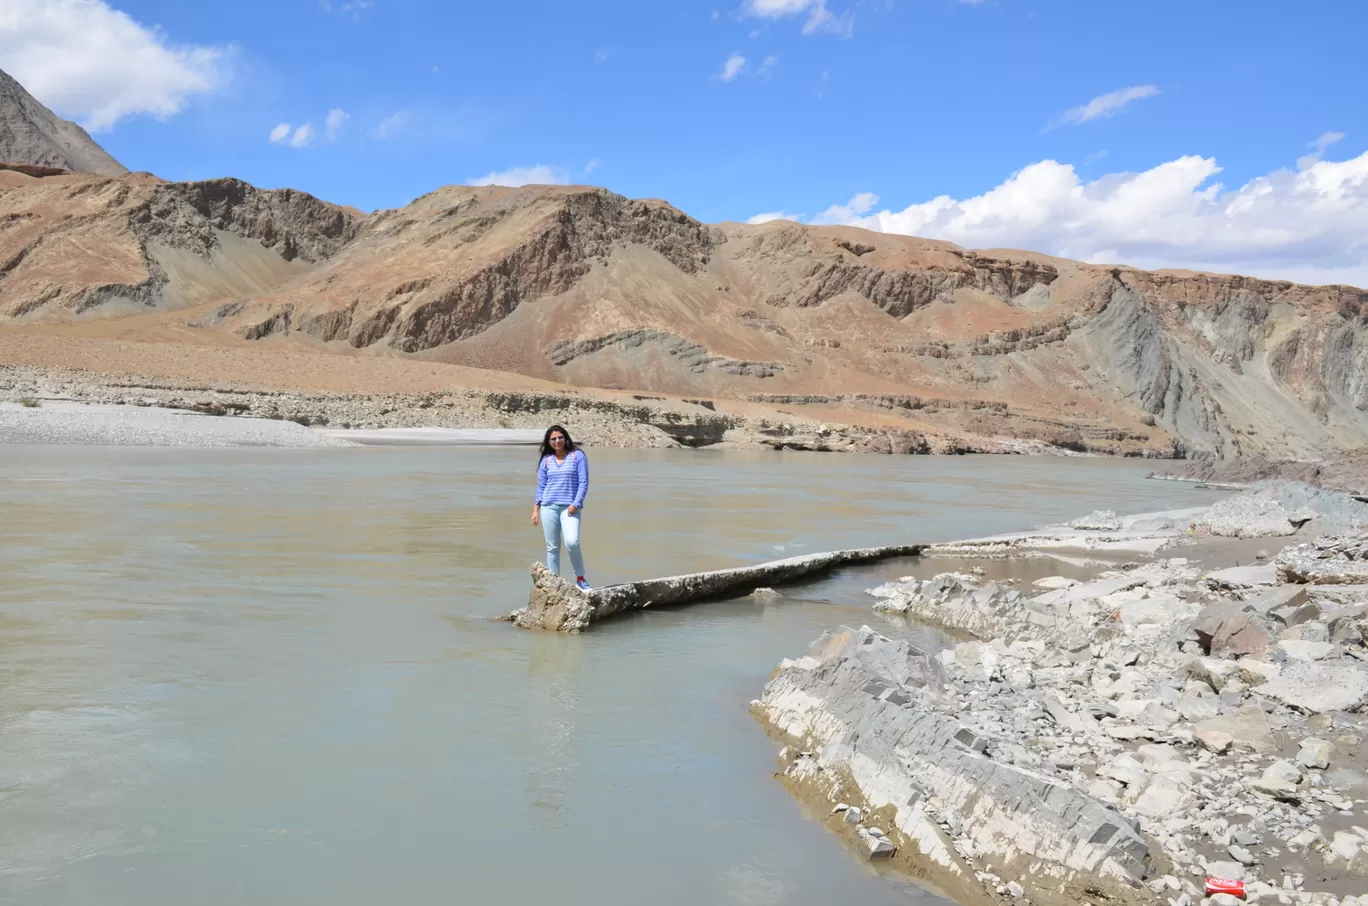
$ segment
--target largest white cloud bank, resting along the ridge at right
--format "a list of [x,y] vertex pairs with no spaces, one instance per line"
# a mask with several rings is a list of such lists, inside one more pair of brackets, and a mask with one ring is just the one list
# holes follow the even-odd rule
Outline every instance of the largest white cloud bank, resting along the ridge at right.
[[1073,166],[1042,160],[971,198],[876,211],[878,197],[860,193],[811,222],[1092,263],[1368,286],[1368,152],[1238,187],[1213,182],[1219,172],[1213,159],[1189,155],[1085,182]]

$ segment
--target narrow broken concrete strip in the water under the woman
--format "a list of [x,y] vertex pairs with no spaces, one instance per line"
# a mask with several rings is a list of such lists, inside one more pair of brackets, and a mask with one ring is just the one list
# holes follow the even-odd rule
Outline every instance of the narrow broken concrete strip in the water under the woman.
[[532,564],[532,593],[528,595],[527,606],[503,619],[524,630],[579,632],[588,628],[591,623],[598,623],[622,610],[694,604],[793,582],[836,567],[892,557],[914,557],[925,546],[893,545],[832,550],[821,554],[788,557],[787,560],[772,560],[754,567],[628,582],[587,593],[580,591],[538,562]]

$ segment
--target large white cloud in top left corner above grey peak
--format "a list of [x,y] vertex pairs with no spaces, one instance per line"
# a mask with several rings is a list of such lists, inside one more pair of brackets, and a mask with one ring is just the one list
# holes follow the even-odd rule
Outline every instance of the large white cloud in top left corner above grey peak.
[[104,0],[4,0],[0,60],[40,101],[86,129],[172,116],[230,78],[230,47],[172,44]]

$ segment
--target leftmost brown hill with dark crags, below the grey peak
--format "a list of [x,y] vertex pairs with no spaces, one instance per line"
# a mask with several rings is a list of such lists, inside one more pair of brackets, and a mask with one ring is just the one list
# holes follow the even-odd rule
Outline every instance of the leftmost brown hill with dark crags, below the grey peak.
[[0,319],[144,315],[308,274],[360,213],[238,179],[0,171]]

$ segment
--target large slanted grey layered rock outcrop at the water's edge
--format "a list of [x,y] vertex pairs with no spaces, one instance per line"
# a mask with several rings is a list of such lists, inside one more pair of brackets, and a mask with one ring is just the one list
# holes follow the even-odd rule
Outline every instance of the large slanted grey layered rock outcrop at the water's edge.
[[[947,824],[977,864],[1012,872],[1033,899],[1083,883],[1120,894],[1148,870],[1149,846],[1085,792],[1001,761],[996,740],[944,712],[934,661],[869,627],[818,639],[784,661],[758,714],[848,775],[907,840]],[[936,853],[933,844],[919,844]],[[956,857],[945,851],[945,870]],[[1029,876],[1026,866],[1030,866]]]

